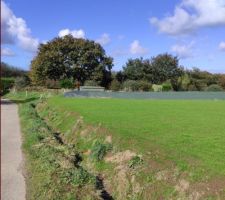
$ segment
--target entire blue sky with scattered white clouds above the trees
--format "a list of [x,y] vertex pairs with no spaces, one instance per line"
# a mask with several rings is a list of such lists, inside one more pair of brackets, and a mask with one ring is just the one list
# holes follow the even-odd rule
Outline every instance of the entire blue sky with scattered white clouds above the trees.
[[161,53],[225,73],[225,0],[4,0],[1,60],[23,69],[40,43],[72,34],[100,43],[114,71]]

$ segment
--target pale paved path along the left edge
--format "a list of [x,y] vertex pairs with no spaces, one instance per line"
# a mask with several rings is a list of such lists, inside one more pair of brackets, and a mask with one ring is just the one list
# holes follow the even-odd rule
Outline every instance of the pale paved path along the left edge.
[[25,200],[17,105],[1,101],[1,199]]

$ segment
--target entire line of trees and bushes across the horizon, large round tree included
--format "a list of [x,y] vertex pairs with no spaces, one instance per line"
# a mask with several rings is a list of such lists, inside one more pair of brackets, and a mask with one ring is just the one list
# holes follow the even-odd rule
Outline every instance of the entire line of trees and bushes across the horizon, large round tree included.
[[28,72],[1,63],[2,77],[22,77],[19,86],[74,88],[77,83],[113,91],[222,91],[225,74],[198,68],[185,69],[179,59],[160,54],[150,59],[128,59],[121,71],[112,72],[113,58],[103,47],[71,35],[41,44]]

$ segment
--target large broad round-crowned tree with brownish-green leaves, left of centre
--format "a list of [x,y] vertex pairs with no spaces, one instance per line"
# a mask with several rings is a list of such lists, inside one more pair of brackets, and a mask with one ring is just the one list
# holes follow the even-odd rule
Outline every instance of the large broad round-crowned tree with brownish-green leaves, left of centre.
[[72,77],[81,83],[94,80],[107,86],[111,81],[112,62],[100,44],[67,35],[39,46],[31,62],[31,79],[35,84],[44,85],[47,79]]

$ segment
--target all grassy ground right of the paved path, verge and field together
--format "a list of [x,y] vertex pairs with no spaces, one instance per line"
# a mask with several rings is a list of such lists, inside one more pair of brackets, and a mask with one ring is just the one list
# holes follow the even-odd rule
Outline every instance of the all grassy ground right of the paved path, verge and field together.
[[[39,96],[8,95],[22,103],[20,115],[27,135],[24,144],[29,143],[28,155],[32,158],[34,153],[42,154],[35,162],[36,167],[29,165],[28,160],[29,171],[35,175],[28,182],[38,185],[39,193],[45,192],[43,199],[58,198],[59,194],[62,199],[74,199],[76,191],[82,197],[75,195],[75,199],[225,198],[225,101],[46,96],[37,107],[28,107]],[[34,119],[29,114],[32,109],[37,113],[32,115]],[[29,120],[33,122],[26,123]],[[53,139],[36,140],[32,145],[29,132],[36,122],[39,125],[35,132],[43,136],[41,124],[47,124],[49,133],[45,137]],[[33,151],[37,145],[48,150],[42,148],[44,154]],[[63,163],[73,152],[82,161],[79,167],[69,168],[71,175],[66,175],[65,182],[57,174],[68,174]],[[77,176],[80,169],[85,174],[82,171]],[[47,175],[45,170],[49,172]],[[46,179],[36,179],[37,174]],[[96,180],[87,181],[87,185],[77,184],[86,180],[86,174]],[[58,184],[49,184],[54,181]],[[33,196],[37,195],[35,187],[31,191]]]

